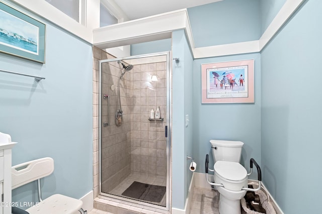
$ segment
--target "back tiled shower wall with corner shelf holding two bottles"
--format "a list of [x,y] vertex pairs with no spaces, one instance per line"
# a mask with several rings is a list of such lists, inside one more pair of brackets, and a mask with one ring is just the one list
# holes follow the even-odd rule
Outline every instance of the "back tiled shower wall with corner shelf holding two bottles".
[[[133,70],[131,171],[148,176],[166,175],[166,62],[135,65]],[[151,76],[157,81],[152,82]],[[160,107],[164,121],[149,121],[151,109]]]

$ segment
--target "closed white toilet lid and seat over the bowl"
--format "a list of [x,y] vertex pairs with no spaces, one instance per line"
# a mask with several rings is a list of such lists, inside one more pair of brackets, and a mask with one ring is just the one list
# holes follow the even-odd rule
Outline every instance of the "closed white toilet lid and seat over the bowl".
[[217,161],[214,172],[215,182],[222,183],[229,190],[239,191],[248,186],[247,171],[237,162]]

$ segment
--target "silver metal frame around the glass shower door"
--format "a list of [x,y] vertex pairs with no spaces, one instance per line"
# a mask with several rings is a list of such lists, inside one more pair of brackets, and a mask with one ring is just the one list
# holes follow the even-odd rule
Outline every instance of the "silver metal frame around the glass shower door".
[[[156,57],[156,56],[166,56],[166,69],[167,69],[167,100],[166,100],[166,110],[167,110],[167,115],[166,115],[166,127],[165,127],[165,131],[166,131],[166,135],[167,135],[167,139],[166,139],[166,144],[167,144],[167,148],[166,148],[166,160],[167,160],[167,164],[166,164],[166,180],[167,180],[167,186],[166,186],[166,206],[161,206],[161,205],[156,205],[153,203],[148,203],[148,202],[144,202],[144,201],[139,201],[139,200],[134,200],[134,199],[130,199],[130,198],[126,198],[126,197],[122,197],[122,196],[118,196],[118,195],[113,195],[113,194],[109,194],[109,193],[105,193],[102,192],[102,63],[106,63],[106,62],[114,62],[114,61],[123,61],[123,60],[130,60],[130,59],[139,59],[139,58],[147,58],[147,57]],[[172,177],[172,156],[171,156],[171,127],[172,127],[172,122],[171,122],[171,118],[172,118],[172,113],[171,113],[171,109],[172,109],[172,67],[171,67],[171,52],[167,51],[167,52],[158,52],[158,53],[152,53],[152,54],[143,54],[143,55],[136,55],[136,56],[130,56],[130,57],[123,57],[123,58],[114,58],[114,59],[105,59],[105,60],[99,60],[99,195],[98,197],[102,197],[102,198],[107,198],[109,200],[115,201],[115,202],[120,202],[122,203],[122,201],[127,201],[130,203],[133,203],[134,206],[135,204],[138,205],[144,205],[144,206],[148,206],[151,208],[157,208],[157,209],[162,209],[162,210],[167,210],[167,211],[171,211],[171,177]]]

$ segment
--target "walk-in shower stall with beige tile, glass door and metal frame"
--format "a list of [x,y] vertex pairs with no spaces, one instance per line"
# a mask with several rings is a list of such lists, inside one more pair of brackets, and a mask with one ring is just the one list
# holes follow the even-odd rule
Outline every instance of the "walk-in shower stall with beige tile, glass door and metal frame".
[[169,52],[99,61],[101,197],[170,209],[170,83]]

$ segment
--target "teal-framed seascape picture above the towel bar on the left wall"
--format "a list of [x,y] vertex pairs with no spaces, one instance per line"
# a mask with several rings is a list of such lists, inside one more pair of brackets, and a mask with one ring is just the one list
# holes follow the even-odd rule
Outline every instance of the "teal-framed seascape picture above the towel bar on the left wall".
[[45,63],[46,25],[0,3],[0,51]]

